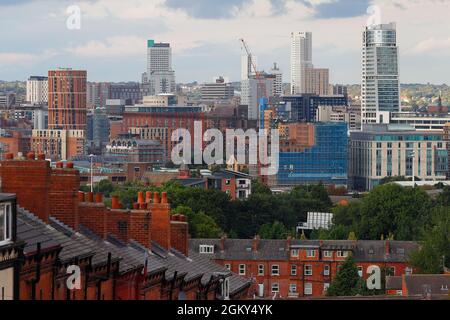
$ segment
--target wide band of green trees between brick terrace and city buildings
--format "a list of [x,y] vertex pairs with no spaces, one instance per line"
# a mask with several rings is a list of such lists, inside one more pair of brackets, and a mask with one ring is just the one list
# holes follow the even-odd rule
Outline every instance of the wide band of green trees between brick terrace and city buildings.
[[236,201],[219,190],[183,187],[175,182],[155,187],[140,182],[114,186],[102,181],[96,191],[106,197],[119,196],[128,208],[137,200],[138,191],[165,191],[173,212],[188,216],[193,238],[217,238],[222,234],[252,238],[258,234],[263,239],[285,239],[299,236],[295,228],[306,221],[308,212],[333,212],[329,230],[316,230],[307,237],[420,241],[422,249],[411,257],[415,266],[436,273],[450,265],[449,187],[432,199],[419,187],[385,184],[361,199],[338,206],[333,206],[323,185],[299,186],[291,192],[273,194],[266,186],[253,182],[249,198]]

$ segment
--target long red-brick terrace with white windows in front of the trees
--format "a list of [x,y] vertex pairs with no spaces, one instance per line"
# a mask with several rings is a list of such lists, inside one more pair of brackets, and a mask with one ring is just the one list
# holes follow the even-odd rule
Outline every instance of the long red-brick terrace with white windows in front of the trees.
[[380,267],[386,275],[411,274],[408,241],[192,239],[198,252],[252,281],[250,295],[260,298],[313,298],[325,294],[339,265],[352,254],[360,276]]

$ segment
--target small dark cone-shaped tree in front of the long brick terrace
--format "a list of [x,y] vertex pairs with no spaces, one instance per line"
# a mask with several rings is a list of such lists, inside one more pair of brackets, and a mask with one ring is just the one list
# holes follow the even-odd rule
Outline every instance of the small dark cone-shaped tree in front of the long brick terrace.
[[350,255],[342,263],[336,277],[327,289],[328,296],[354,296],[361,289],[360,277],[355,260]]

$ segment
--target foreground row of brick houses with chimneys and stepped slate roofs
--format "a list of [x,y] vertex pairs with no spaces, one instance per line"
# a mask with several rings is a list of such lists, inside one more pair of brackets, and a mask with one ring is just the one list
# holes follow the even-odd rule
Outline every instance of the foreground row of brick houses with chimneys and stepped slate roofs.
[[[78,192],[79,172],[68,163],[51,168],[35,159],[6,156],[0,166],[3,197],[15,208],[11,234],[0,252],[18,248],[17,274],[8,291],[24,300],[239,299],[250,282],[188,250],[188,224],[170,215],[167,195],[138,194],[132,210],[101,194]],[[30,183],[32,182],[32,183]],[[11,200],[13,199],[13,200]],[[19,250],[23,246],[23,250]],[[0,272],[7,266],[0,264]],[[16,263],[17,264],[17,263]],[[80,288],[67,280],[73,265],[81,271]],[[8,273],[10,274],[10,272]],[[13,288],[10,288],[13,286]],[[15,288],[15,289],[14,289]],[[11,294],[9,295],[11,298]]]

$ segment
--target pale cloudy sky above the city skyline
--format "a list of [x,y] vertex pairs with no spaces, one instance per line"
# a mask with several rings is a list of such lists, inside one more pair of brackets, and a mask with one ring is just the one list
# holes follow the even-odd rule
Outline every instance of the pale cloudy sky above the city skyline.
[[140,81],[154,39],[171,44],[177,82],[238,81],[244,38],[259,69],[277,62],[289,82],[290,33],[311,31],[314,66],[353,84],[363,29],[379,21],[397,24],[402,83],[450,84],[449,12],[450,0],[0,0],[0,80],[71,67]]

